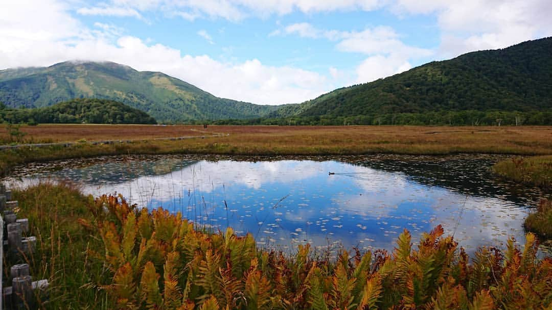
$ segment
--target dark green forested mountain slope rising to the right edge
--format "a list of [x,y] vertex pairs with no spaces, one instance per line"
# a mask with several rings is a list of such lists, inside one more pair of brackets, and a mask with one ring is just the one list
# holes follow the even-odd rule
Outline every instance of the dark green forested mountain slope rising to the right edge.
[[334,90],[268,117],[347,117],[439,111],[550,111],[552,37],[434,61]]

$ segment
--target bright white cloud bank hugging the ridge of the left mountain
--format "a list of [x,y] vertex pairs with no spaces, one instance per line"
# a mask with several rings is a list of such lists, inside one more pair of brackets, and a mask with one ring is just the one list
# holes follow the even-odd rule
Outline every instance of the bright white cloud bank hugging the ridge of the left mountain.
[[[186,55],[122,36],[123,29],[110,24],[95,23],[89,29],[71,17],[70,9],[55,0],[3,4],[0,69],[50,66],[70,59],[113,61],[137,70],[161,71],[215,96],[258,104],[302,102],[335,88],[325,75],[309,70],[267,66],[259,59],[221,62],[207,55]],[[206,31],[199,35],[210,38]]]

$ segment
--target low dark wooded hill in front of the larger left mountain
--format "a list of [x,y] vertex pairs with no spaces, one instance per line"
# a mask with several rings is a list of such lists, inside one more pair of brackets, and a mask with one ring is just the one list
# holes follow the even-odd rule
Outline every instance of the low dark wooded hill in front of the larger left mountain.
[[0,120],[10,123],[157,123],[144,111],[106,99],[73,99],[40,108],[0,108]]

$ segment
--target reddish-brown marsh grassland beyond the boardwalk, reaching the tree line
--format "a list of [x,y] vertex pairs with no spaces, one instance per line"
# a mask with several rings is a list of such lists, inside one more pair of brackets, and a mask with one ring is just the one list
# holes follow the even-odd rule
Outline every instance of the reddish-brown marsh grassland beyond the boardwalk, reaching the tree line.
[[[229,145],[238,153],[305,154],[374,153],[507,153],[552,154],[552,127],[427,127],[427,126],[155,126],[41,124],[22,126],[24,142],[75,142],[100,140],[154,139],[229,134],[201,143],[182,142],[194,150],[203,144]],[[7,137],[0,128],[0,137]],[[205,149],[205,148],[203,148]]]

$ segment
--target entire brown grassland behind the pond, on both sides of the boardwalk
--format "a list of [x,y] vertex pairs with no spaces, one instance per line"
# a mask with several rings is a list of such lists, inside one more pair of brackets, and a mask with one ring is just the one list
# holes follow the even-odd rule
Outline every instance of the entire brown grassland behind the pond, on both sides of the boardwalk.
[[[3,150],[0,169],[4,173],[25,162],[118,154],[552,154],[552,127],[209,126],[204,129],[203,126],[41,124],[22,126],[19,130],[25,133],[21,143],[134,142]],[[152,140],[201,136],[204,138]],[[0,128],[0,139],[9,139],[5,128]]]

